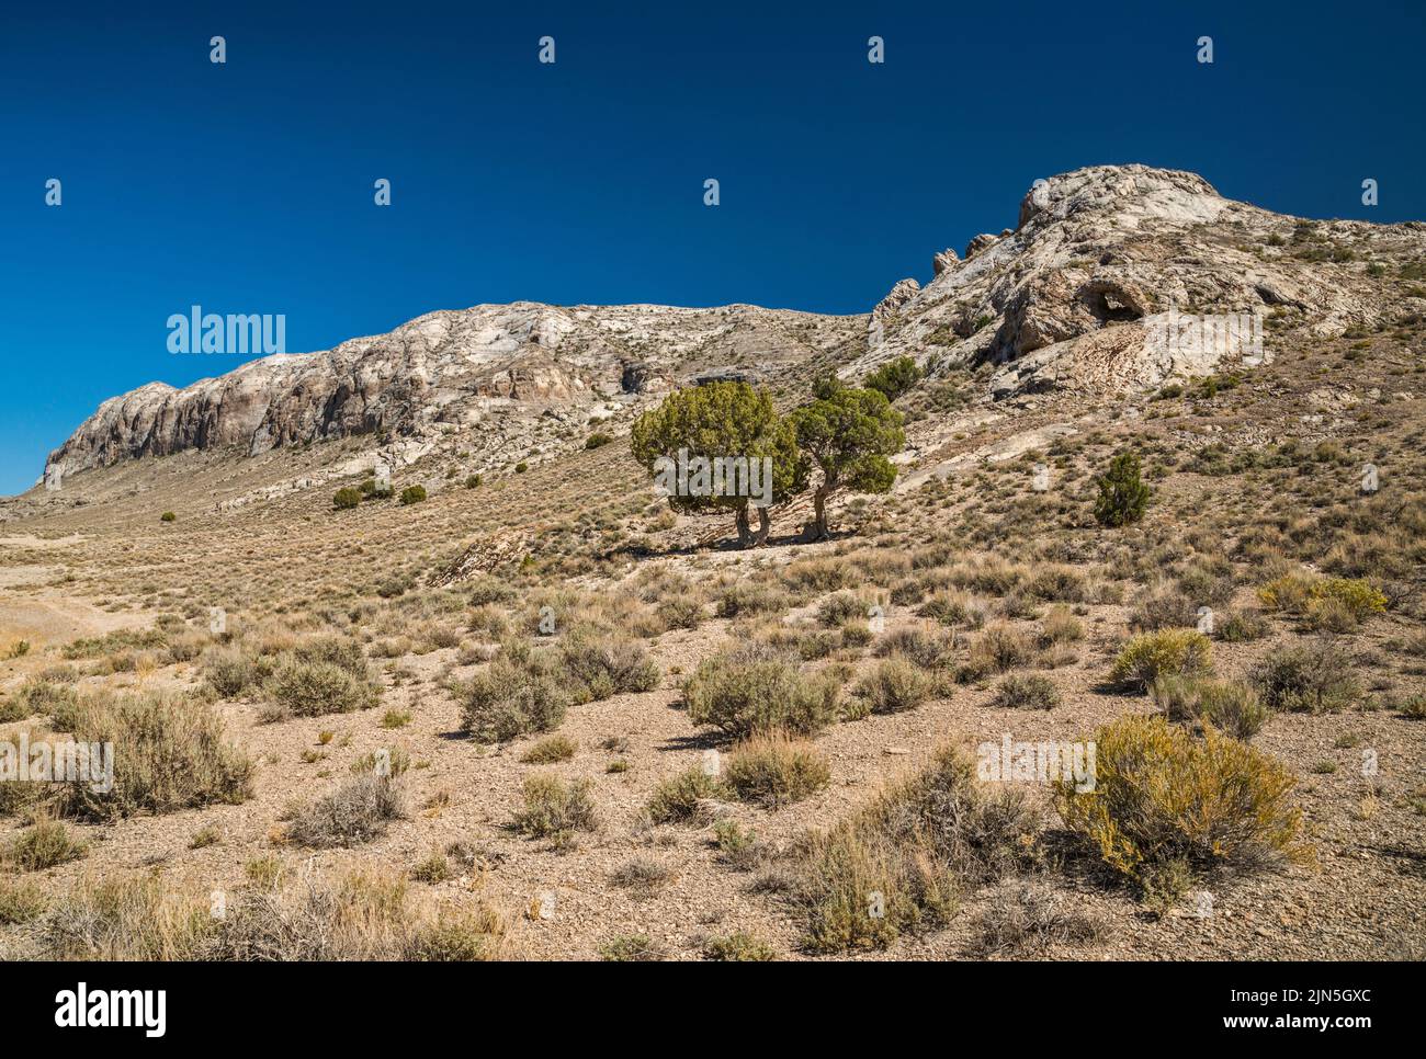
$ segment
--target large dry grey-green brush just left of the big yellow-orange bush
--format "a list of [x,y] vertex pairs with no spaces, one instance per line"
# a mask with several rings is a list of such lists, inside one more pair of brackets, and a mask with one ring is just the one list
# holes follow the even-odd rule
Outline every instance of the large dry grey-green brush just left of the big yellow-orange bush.
[[1021,791],[988,790],[974,761],[941,748],[848,820],[809,835],[789,899],[811,951],[883,948],[944,925],[958,894],[1015,872],[1035,857],[1037,832]]

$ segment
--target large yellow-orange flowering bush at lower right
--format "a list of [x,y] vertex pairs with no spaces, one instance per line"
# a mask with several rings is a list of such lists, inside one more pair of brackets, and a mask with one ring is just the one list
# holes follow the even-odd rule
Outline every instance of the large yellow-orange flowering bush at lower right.
[[1165,874],[1252,871],[1309,854],[1292,771],[1246,743],[1164,717],[1095,733],[1092,791],[1062,782],[1060,812],[1109,868],[1141,887]]

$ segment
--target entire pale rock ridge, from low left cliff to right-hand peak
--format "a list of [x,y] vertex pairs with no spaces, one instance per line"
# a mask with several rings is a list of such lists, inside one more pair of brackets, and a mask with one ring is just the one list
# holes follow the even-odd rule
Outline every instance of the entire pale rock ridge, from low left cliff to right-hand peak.
[[[1142,389],[1225,361],[1261,362],[1271,356],[1265,329],[1330,336],[1375,326],[1400,306],[1387,305],[1368,258],[1426,248],[1419,224],[1302,221],[1225,200],[1195,174],[1144,165],[1035,181],[1014,219],[961,254],[935,254],[924,286],[901,279],[870,315],[479,305],[184,389],[150,383],[104,402],[46,473],[354,435],[398,462],[451,435],[492,458],[522,458],[672,385],[829,365],[858,378],[903,355],[931,375],[991,365],[988,399]],[[1184,319],[1209,315],[1248,326],[1195,339]]]

